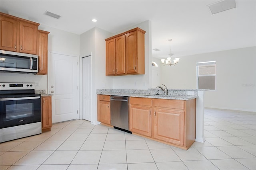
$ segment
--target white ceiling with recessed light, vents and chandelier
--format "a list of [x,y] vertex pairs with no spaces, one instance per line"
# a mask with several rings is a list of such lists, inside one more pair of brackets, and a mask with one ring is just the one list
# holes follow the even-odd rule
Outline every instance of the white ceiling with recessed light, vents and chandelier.
[[[50,27],[80,35],[93,27],[111,33],[150,20],[152,57],[165,58],[256,46],[256,1],[236,0],[236,8],[212,15],[216,0],[1,0],[12,12]],[[60,19],[44,15],[49,11]],[[95,18],[98,21],[92,22]],[[241,56],[242,57],[242,56]]]

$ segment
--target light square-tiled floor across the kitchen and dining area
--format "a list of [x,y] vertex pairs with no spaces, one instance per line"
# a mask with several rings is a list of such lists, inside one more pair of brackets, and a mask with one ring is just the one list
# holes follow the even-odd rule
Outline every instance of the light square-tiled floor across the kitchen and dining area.
[[256,113],[205,109],[204,143],[188,150],[85,120],[0,144],[1,170],[255,170]]

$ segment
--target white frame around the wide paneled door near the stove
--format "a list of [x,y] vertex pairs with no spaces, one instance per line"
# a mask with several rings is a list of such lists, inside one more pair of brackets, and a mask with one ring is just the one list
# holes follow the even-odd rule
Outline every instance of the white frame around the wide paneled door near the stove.
[[[77,67],[76,67],[76,74],[77,76],[79,76],[79,56],[77,55],[73,55],[73,54],[66,54],[66,53],[61,53],[61,52],[56,52],[56,51],[48,51],[48,74],[47,74],[47,90],[46,93],[51,94],[51,89],[50,89],[50,57],[51,57],[51,53],[54,54],[59,54],[59,55],[68,55],[68,56],[72,56],[72,57],[76,57],[76,63],[77,63]],[[79,104],[80,104],[80,100],[79,100],[79,78],[77,78],[76,80],[76,85],[77,85],[77,90],[76,90],[76,100],[77,105],[76,105],[76,110],[78,111],[77,114],[77,119],[80,119],[80,109],[79,109]],[[52,105],[54,104],[54,95],[52,96]]]

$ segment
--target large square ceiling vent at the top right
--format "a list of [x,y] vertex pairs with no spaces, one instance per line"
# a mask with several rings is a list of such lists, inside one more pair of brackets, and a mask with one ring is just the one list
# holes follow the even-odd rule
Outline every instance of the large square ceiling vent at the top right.
[[222,0],[222,1],[216,2],[214,4],[210,4],[208,6],[209,6],[212,14],[216,14],[218,12],[236,8],[236,1],[235,0]]

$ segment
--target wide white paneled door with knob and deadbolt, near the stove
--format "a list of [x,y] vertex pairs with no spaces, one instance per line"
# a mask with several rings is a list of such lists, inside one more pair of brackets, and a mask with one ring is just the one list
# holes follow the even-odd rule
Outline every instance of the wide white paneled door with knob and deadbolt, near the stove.
[[50,53],[52,122],[78,119],[77,57]]

